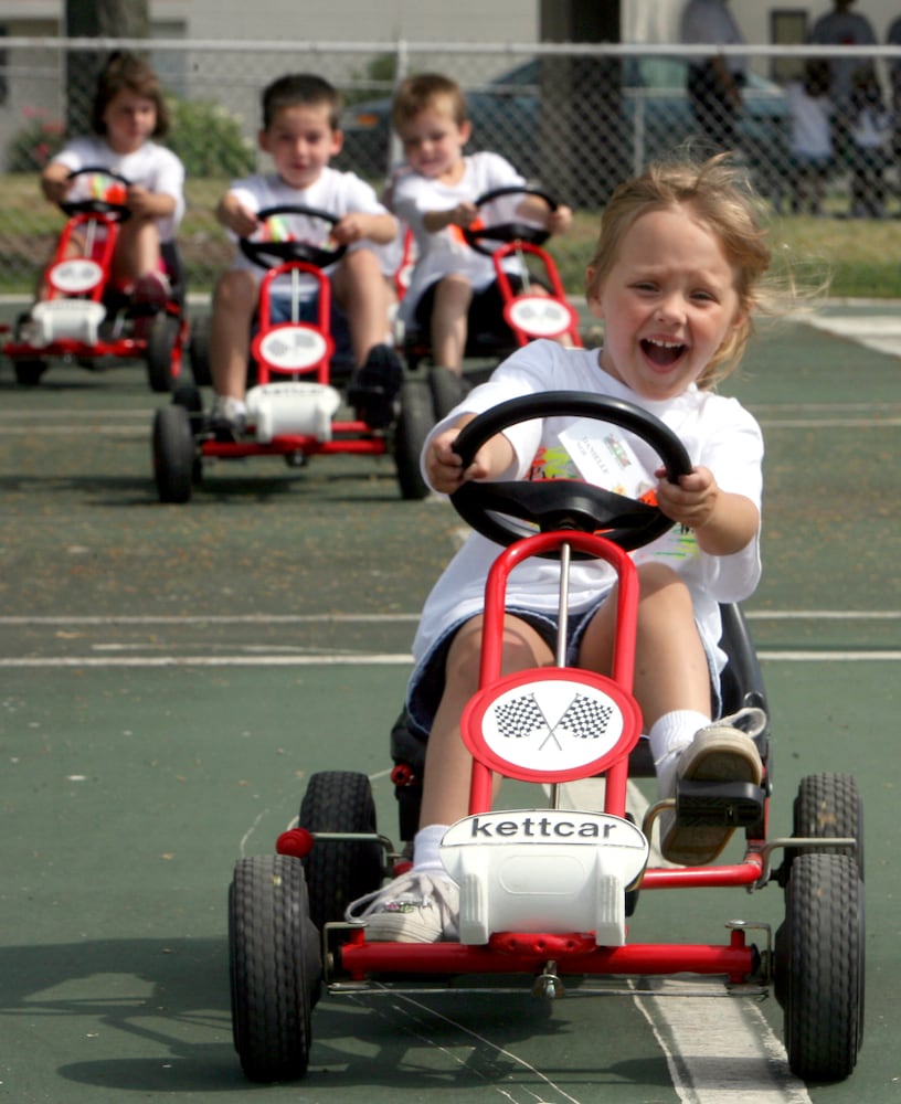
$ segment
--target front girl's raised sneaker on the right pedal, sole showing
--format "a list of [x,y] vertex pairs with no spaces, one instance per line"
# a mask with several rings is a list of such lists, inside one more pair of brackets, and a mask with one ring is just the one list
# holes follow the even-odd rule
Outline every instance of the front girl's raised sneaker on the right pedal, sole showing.
[[[739,710],[732,716],[704,725],[679,756],[676,778],[746,782],[759,786],[763,764],[753,737],[765,726],[766,714],[756,708]],[[669,862],[682,867],[712,862],[735,830],[728,825],[680,825],[675,810],[669,809],[660,815],[659,825],[660,852]]]

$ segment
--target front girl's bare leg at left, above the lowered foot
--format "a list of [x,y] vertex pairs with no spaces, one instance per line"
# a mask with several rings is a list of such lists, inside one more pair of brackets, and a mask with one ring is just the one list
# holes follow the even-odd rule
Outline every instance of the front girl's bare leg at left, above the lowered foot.
[[[478,689],[481,629],[474,617],[457,633],[447,656],[445,689],[435,713],[426,750],[420,826],[451,825],[469,811],[473,760],[460,737],[463,711]],[[518,617],[507,616],[504,628],[501,673],[550,664],[547,641]]]

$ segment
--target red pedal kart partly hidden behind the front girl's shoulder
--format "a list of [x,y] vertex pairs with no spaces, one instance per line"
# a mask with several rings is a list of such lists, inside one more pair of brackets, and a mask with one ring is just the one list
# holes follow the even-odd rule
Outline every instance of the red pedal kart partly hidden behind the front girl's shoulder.
[[[471,250],[491,257],[502,308],[492,325],[467,332],[465,357],[489,358],[487,372],[475,369],[462,379],[442,365],[430,370],[438,420],[456,406],[463,389],[490,374],[499,360],[536,338],[566,338],[572,346],[582,344],[579,316],[566,299],[553,257],[543,248],[549,231],[517,215],[516,201],[526,197],[543,200],[550,211],[558,209],[556,200],[547,192],[509,184],[480,195],[476,200],[478,217],[462,232]],[[518,262],[518,279],[511,279],[506,267],[510,257]],[[411,369],[432,360],[427,336],[415,329],[404,336],[403,351]]]

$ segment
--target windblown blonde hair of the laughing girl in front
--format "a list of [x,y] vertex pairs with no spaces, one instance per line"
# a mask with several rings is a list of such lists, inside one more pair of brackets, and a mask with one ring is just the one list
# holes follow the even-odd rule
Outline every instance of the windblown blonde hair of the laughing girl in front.
[[[690,158],[661,161],[621,184],[601,220],[587,290],[592,294],[601,286],[636,219],[649,211],[680,206],[691,208],[696,217],[720,240],[735,273],[742,311],[741,323],[729,331],[697,381],[699,388],[710,389],[734,371],[744,355],[754,327],[752,312],[777,309],[775,286],[766,283],[772,254],[763,225],[763,204],[731,155],[719,153],[703,162]],[[791,278],[788,283],[793,294]]]

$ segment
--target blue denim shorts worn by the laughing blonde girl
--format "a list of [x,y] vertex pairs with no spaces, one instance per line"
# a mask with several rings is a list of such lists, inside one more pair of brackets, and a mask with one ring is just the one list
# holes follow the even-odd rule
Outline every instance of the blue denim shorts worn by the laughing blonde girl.
[[[601,608],[604,598],[598,598],[594,605],[589,606],[580,613],[573,615],[566,626],[566,665],[576,666],[579,649],[582,646],[582,637],[589,627],[592,618]],[[508,614],[524,620],[541,636],[552,651],[556,649],[556,630],[559,618],[556,614],[536,613],[533,609],[520,609],[510,606]],[[407,726],[410,731],[420,740],[428,740],[432,724],[435,720],[438,704],[444,693],[445,668],[447,666],[447,655],[454,637],[463,626],[473,619],[474,614],[462,617],[451,625],[449,628],[432,645],[432,648],[416,665],[406,690],[406,713]],[[720,697],[720,676],[717,670],[717,660],[710,650],[707,652],[707,665],[710,671],[710,699],[712,715],[719,716],[722,700]]]

